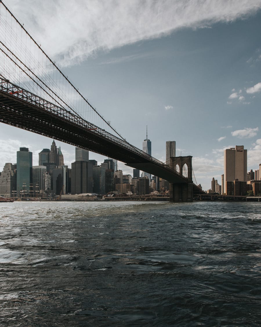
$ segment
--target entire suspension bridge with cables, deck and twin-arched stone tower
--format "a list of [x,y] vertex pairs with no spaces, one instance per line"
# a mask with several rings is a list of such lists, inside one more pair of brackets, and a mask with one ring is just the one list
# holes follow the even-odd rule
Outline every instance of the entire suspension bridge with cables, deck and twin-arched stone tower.
[[[162,163],[127,142],[0,2],[0,122],[116,159],[170,182],[170,201],[192,201],[192,156]],[[177,169],[178,167],[178,169]],[[187,176],[183,176],[187,167]]]

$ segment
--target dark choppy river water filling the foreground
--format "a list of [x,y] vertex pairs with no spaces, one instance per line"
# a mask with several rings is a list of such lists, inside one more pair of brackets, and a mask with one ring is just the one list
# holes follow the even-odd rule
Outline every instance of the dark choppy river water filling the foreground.
[[1,326],[260,326],[261,204],[0,207]]

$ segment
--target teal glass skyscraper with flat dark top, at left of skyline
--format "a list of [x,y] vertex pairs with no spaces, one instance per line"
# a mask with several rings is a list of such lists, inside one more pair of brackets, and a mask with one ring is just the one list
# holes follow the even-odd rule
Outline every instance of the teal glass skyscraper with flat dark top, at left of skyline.
[[17,196],[29,193],[32,183],[33,154],[27,147],[17,151]]

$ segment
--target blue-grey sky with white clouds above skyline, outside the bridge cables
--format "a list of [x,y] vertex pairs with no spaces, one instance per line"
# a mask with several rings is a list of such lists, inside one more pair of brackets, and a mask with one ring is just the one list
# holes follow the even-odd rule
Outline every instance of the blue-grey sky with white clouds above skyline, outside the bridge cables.
[[[3,1],[41,48],[134,146],[166,141],[191,155],[194,182],[221,184],[223,151],[244,145],[248,171],[261,163],[261,0]],[[0,125],[0,171],[26,146],[52,140]],[[61,146],[65,164],[73,146]],[[90,152],[99,163],[105,157]],[[132,168],[118,169],[132,175]]]

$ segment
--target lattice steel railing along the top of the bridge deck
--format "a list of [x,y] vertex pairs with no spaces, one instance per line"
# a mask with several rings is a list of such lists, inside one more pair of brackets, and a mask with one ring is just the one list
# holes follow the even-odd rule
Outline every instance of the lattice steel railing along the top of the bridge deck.
[[[23,88],[11,83],[7,79],[0,77],[0,89],[1,89],[1,91],[5,92],[9,95],[17,97],[17,98],[24,100],[28,103],[31,103],[37,107],[40,107],[49,112],[52,112],[63,119],[69,120],[70,122],[73,122],[79,126],[82,126],[86,129],[90,130],[94,134],[98,134],[106,139],[109,139],[112,142],[115,142],[116,144],[118,144],[122,147],[125,147],[125,148],[131,150],[133,153],[138,153],[141,157],[146,158],[151,163],[157,164],[158,166],[161,166],[162,168],[167,169],[167,170],[171,171],[172,173],[175,173],[175,174],[181,176],[181,174],[179,172],[171,169],[170,166],[162,163],[160,160],[158,160],[156,158],[153,158],[152,156],[150,156],[146,152],[142,151],[141,149],[131,145],[126,140],[118,138],[117,136],[107,132],[105,129],[101,129],[100,127],[84,120],[82,117],[77,116],[76,114],[70,112],[69,110],[66,110],[62,107],[58,107],[55,104],[39,97],[38,95],[35,95]],[[186,178],[184,177],[184,179],[186,179]]]

